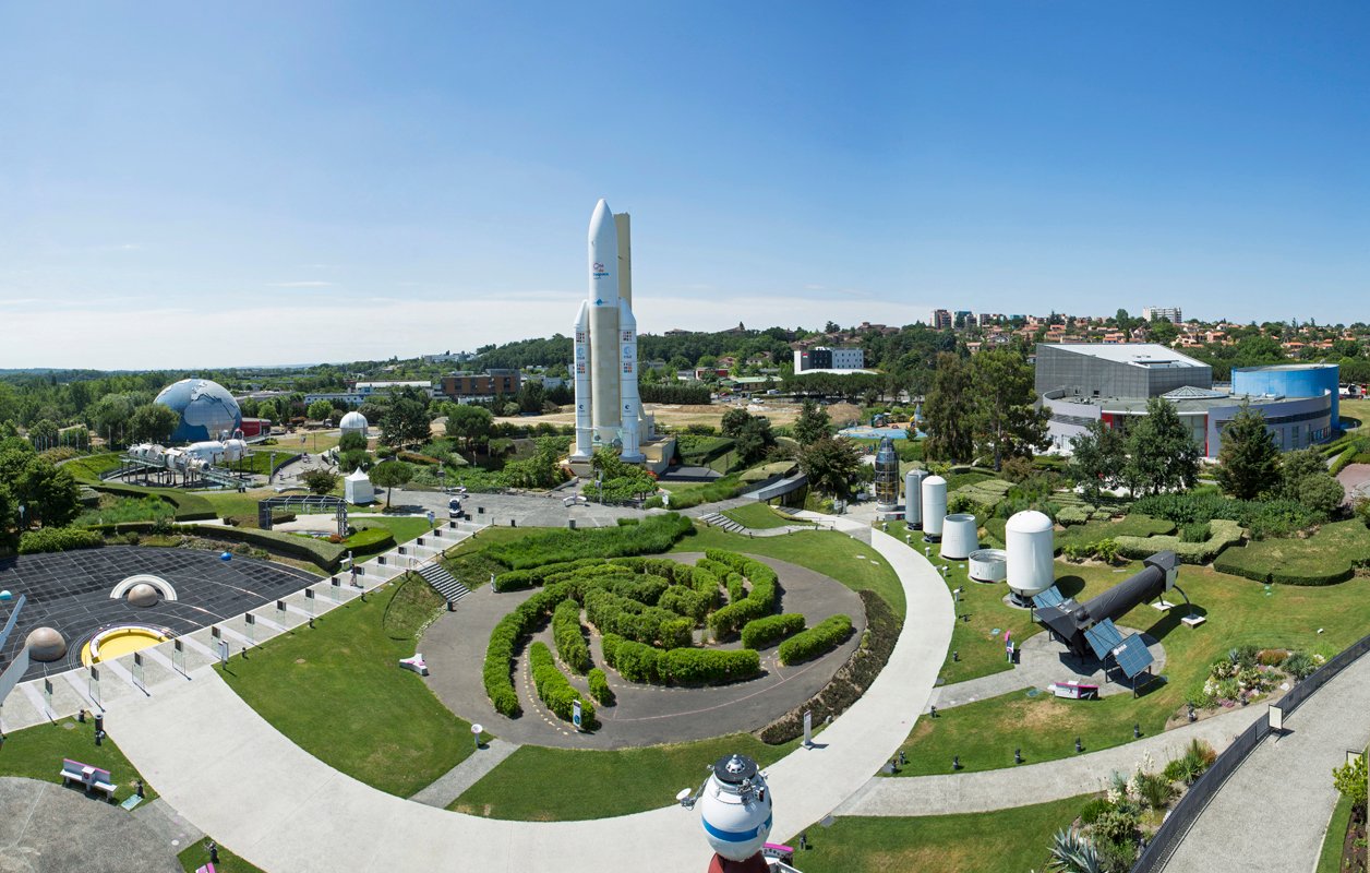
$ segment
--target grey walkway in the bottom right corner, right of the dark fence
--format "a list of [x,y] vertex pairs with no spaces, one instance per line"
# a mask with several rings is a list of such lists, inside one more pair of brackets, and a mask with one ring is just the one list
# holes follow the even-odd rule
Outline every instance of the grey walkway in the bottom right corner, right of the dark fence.
[[1370,658],[1360,658],[1289,715],[1285,736],[1266,737],[1228,777],[1167,873],[1311,872],[1337,803],[1332,769],[1370,743],[1367,713]]

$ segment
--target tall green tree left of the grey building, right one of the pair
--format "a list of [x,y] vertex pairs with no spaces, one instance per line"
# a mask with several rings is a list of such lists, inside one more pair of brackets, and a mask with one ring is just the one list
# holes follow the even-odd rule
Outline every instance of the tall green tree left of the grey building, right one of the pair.
[[1036,408],[1033,370],[1028,360],[1007,348],[989,349],[970,362],[975,430],[993,455],[995,470],[1004,458],[1028,456],[1047,448],[1049,413]]

